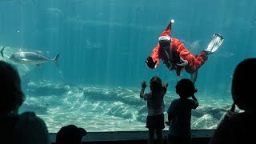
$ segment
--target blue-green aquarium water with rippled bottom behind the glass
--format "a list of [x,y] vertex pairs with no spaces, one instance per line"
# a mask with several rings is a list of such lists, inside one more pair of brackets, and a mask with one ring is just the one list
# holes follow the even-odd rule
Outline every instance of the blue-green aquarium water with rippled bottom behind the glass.
[[[200,106],[191,122],[192,129],[213,129],[232,103],[234,67],[255,57],[255,6],[253,0],[0,0],[0,46],[6,46],[0,59],[21,74],[21,112],[35,111],[50,132],[70,123],[88,131],[146,130],[142,80],[158,75],[169,82],[167,109],[178,98],[176,82],[190,77],[177,77],[162,62],[156,70],[145,65],[170,19],[172,36],[193,54],[222,34],[222,46],[198,71]],[[19,50],[60,53],[58,65],[10,61]]]

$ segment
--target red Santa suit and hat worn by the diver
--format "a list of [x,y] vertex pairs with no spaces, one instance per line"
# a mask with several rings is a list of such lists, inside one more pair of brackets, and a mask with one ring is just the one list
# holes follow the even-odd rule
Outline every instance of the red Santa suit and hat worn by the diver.
[[[201,67],[206,60],[208,59],[208,56],[206,55],[206,52],[202,51],[201,54],[198,56],[193,55],[190,53],[189,50],[186,49],[184,44],[180,42],[177,38],[171,38],[170,37],[170,30],[171,30],[171,24],[173,22],[170,22],[170,24],[166,27],[166,30],[162,32],[161,36],[159,37],[159,41],[161,40],[170,40],[170,50],[169,50],[169,58],[166,57],[165,51],[160,49],[160,45],[158,42],[158,45],[154,47],[154,50],[152,51],[152,54],[150,54],[150,57],[153,59],[154,62],[157,61],[156,67],[159,66],[160,62],[159,59],[162,59],[162,61],[166,64],[166,62],[170,62],[170,65],[167,65],[167,68],[169,70],[176,70],[176,74],[179,76],[182,73],[182,70],[185,68],[186,72],[189,74],[193,74],[195,71]],[[173,58],[171,57],[174,51],[178,52],[181,62],[180,63],[174,63]]]

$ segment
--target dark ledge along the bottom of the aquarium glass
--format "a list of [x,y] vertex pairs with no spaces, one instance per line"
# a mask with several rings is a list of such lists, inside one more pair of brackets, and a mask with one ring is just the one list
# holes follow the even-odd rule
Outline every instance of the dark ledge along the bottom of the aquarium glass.
[[[164,143],[166,143],[168,131],[163,131]],[[214,130],[192,130],[192,144],[208,144]],[[55,143],[55,133],[50,134],[51,142]],[[155,136],[156,138],[156,136]],[[113,131],[90,132],[82,138],[82,143],[106,144],[106,143],[147,143],[147,131]]]

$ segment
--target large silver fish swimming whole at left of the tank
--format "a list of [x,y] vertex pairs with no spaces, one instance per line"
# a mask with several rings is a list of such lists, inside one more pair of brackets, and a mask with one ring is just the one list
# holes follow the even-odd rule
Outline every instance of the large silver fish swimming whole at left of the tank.
[[30,65],[40,65],[42,63],[46,63],[49,61],[53,61],[54,63],[58,62],[59,54],[55,56],[55,58],[47,58],[46,56],[36,53],[36,52],[26,52],[19,51],[10,56],[10,60],[13,62],[18,62],[22,64],[30,64]]

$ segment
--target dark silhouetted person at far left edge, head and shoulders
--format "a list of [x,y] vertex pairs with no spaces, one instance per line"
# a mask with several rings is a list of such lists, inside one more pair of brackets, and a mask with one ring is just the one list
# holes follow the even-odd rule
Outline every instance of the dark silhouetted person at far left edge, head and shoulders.
[[13,66],[0,61],[0,139],[6,143],[50,144],[45,122],[33,112],[18,114],[25,96]]

